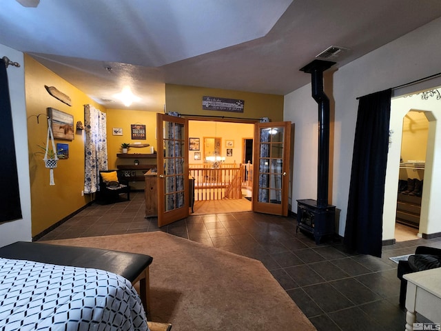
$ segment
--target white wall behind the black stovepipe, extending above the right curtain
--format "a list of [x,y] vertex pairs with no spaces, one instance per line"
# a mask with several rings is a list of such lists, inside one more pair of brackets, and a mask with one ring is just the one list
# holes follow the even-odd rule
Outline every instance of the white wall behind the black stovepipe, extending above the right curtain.
[[[334,93],[328,96],[335,101],[334,163],[332,201],[340,210],[338,234],[345,234],[353,138],[357,119],[357,97],[385,90],[441,71],[441,19],[414,30],[387,45],[343,66],[334,73]],[[311,59],[312,60],[312,59]],[[338,59],[337,59],[338,61]],[[325,81],[326,89],[326,81]],[[312,123],[318,121],[317,104],[311,99],[311,88],[305,86],[285,96],[284,120],[296,123],[294,150],[293,200],[316,197],[311,187],[301,181],[301,170],[316,169],[317,134]],[[331,124],[331,125],[332,125]],[[306,172],[309,176],[309,172]],[[296,179],[298,179],[296,181]],[[395,208],[395,206],[391,206]],[[389,234],[383,240],[392,239]]]

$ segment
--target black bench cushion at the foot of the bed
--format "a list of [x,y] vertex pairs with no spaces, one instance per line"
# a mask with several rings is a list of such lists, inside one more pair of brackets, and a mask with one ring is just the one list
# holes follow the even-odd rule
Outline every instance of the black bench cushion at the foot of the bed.
[[0,257],[101,269],[119,274],[130,282],[153,261],[150,255],[145,254],[26,241],[17,241],[0,248]]

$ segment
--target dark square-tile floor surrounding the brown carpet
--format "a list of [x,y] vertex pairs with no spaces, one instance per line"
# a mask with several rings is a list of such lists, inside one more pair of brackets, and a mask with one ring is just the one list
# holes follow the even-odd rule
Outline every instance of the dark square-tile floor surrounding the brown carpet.
[[93,204],[40,241],[131,232],[164,231],[262,261],[319,331],[403,330],[397,264],[416,245],[441,248],[441,239],[385,246],[382,258],[353,255],[341,243],[296,234],[296,221],[253,212],[190,216],[163,228],[144,218],[144,194],[112,205]]

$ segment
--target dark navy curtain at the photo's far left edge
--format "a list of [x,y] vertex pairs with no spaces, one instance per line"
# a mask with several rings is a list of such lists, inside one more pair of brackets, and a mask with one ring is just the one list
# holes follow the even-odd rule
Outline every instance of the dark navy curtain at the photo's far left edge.
[[[5,61],[0,59],[0,165],[1,186],[0,222],[21,219],[19,176],[15,157],[14,129],[9,97],[8,73]],[[29,174],[23,174],[28,176]]]

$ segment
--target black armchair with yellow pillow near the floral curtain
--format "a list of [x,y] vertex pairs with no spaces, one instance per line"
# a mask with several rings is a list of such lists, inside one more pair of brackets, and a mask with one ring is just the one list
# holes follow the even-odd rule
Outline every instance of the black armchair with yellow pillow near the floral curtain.
[[130,185],[124,179],[121,170],[99,172],[99,202],[114,203],[119,200],[119,194],[123,193],[127,194],[127,201],[130,201]]

